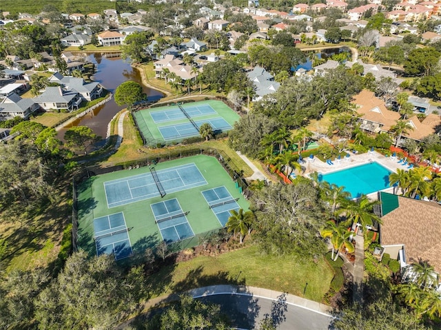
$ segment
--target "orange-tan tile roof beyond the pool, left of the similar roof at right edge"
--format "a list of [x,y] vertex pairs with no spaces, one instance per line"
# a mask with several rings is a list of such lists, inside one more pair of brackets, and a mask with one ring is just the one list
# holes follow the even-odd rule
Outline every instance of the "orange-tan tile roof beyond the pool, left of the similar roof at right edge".
[[362,118],[374,123],[382,123],[382,130],[388,131],[400,119],[400,114],[387,110],[384,101],[377,99],[370,90],[362,90],[353,96],[353,103],[358,105],[356,112],[362,114]]

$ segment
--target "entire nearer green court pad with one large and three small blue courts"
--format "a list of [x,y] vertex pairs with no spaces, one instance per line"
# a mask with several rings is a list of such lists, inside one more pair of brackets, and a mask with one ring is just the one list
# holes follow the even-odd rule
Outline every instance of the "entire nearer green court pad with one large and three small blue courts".
[[232,209],[249,208],[212,156],[151,167],[92,176],[78,185],[79,248],[90,255],[113,253],[117,260],[143,254],[161,240],[185,249],[224,227]]

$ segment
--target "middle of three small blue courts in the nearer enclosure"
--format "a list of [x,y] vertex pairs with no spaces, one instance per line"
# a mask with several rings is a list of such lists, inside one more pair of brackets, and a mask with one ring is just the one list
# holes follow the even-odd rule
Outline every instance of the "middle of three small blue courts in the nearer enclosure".
[[186,213],[183,212],[176,198],[152,204],[150,207],[152,207],[155,222],[165,243],[173,243],[194,236]]

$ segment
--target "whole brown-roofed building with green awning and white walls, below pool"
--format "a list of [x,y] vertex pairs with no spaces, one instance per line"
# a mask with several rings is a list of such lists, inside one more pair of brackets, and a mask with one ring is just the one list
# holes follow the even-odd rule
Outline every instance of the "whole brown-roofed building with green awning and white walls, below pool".
[[380,192],[380,203],[383,254],[398,259],[402,269],[427,260],[441,274],[441,206],[385,192]]

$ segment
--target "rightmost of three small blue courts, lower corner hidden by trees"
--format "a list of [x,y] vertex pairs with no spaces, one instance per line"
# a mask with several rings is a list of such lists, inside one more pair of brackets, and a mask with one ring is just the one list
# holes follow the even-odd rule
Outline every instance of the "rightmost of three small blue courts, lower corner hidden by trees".
[[225,227],[228,218],[231,216],[229,212],[233,209],[236,211],[240,209],[236,199],[229,194],[226,187],[208,189],[203,191],[202,194],[222,227]]

